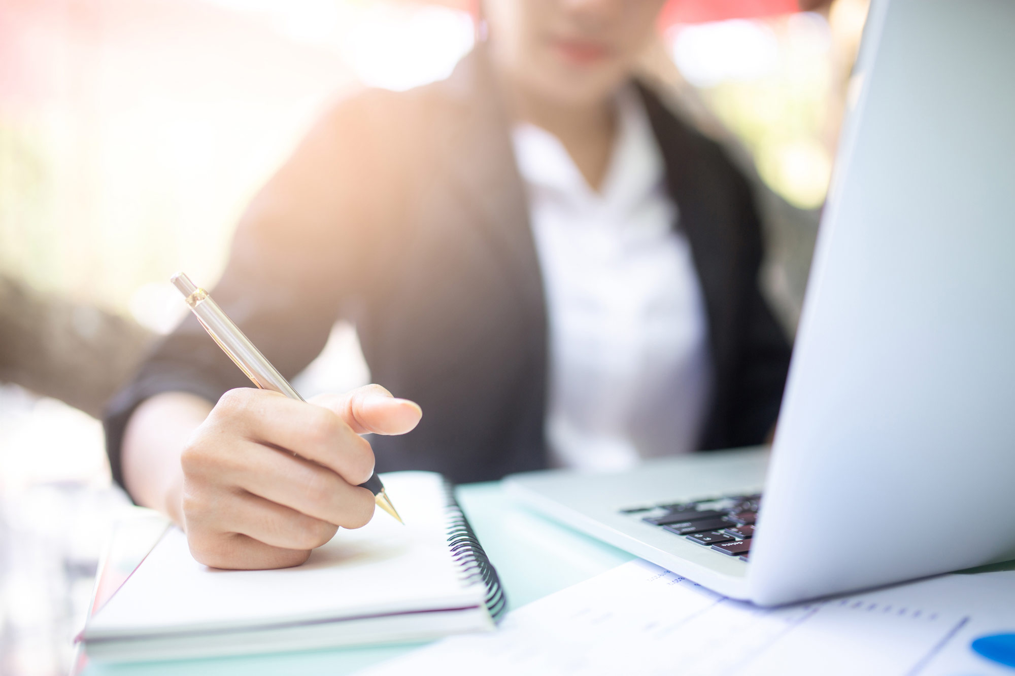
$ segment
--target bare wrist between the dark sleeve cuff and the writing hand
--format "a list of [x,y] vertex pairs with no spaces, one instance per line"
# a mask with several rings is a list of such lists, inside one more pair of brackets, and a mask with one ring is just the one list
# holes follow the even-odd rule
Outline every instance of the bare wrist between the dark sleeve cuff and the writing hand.
[[183,526],[183,469],[180,454],[204,422],[212,403],[184,392],[167,392],[144,401],[124,432],[124,483],[134,499],[158,510]]

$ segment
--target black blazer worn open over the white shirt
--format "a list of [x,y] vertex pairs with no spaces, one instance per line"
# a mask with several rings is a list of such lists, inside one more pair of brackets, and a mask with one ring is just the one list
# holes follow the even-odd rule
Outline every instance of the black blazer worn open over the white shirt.
[[[762,442],[790,346],[758,291],[762,244],[744,177],[639,85],[701,279],[715,386],[701,449]],[[546,466],[543,283],[509,122],[481,51],[446,81],[336,106],[255,198],[214,296],[286,377],[353,321],[374,381],[417,401],[419,426],[374,436],[379,471],[454,481]],[[111,402],[183,390],[217,401],[250,382],[188,318]]]

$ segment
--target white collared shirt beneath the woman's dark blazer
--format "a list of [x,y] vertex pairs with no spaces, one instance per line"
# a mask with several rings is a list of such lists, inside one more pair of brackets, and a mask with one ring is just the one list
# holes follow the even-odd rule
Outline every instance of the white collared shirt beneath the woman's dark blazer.
[[556,137],[512,132],[547,302],[550,459],[597,471],[694,450],[712,385],[704,300],[662,155],[637,94],[617,106],[599,193]]

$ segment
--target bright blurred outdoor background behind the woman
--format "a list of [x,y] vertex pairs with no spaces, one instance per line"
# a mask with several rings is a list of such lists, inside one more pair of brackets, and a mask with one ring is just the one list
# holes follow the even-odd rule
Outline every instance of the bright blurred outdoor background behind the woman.
[[[0,0],[0,673],[66,673],[111,486],[105,399],[206,287],[254,192],[335,96],[447,76],[469,2]],[[647,76],[757,182],[796,328],[867,0],[671,0]],[[336,326],[304,394],[369,374]],[[310,391],[310,392],[308,392]]]

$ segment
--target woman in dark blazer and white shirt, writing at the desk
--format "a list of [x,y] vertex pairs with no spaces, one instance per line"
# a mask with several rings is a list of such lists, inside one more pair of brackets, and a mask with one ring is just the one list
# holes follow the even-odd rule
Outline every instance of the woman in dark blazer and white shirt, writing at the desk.
[[215,297],[289,377],[354,321],[408,399],[252,390],[185,322],[107,431],[198,560],[302,562],[369,520],[375,458],[477,481],[764,440],[789,346],[745,180],[632,79],[661,5],[489,0],[449,80],[339,105],[258,195]]

